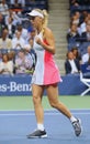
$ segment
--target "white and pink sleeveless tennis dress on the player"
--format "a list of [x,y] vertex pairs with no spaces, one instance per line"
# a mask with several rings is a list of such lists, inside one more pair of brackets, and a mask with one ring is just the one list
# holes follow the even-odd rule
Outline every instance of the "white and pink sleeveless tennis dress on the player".
[[[36,37],[38,37],[43,41],[42,32]],[[46,41],[44,42],[46,43]],[[36,52],[37,59],[36,59],[35,71],[32,76],[32,83],[38,85],[48,85],[48,84],[61,82],[59,70],[55,64],[53,54],[46,51],[42,45],[37,44],[35,42],[35,39],[34,39],[33,48]]]

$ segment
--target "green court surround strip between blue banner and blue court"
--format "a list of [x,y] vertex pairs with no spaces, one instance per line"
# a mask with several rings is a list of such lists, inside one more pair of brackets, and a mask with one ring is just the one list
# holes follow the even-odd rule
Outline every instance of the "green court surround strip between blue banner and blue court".
[[[90,109],[90,96],[59,96],[68,109]],[[43,97],[45,110],[52,109],[47,96]],[[0,111],[2,110],[33,110],[32,96],[0,96]]]

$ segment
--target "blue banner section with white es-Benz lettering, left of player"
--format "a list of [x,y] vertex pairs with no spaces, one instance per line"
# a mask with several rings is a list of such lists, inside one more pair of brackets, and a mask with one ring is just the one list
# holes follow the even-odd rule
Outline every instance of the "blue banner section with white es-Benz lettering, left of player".
[[0,95],[31,95],[32,75],[0,75]]

